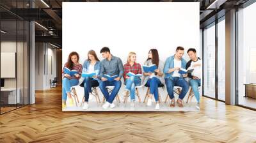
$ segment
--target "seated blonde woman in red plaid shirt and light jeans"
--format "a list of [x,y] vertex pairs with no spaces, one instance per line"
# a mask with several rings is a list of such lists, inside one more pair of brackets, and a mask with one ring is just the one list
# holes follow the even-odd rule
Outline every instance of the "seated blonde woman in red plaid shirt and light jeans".
[[131,107],[134,107],[135,102],[135,86],[141,84],[141,66],[136,63],[136,53],[130,52],[127,58],[127,63],[124,64],[124,84],[125,89],[130,91]]

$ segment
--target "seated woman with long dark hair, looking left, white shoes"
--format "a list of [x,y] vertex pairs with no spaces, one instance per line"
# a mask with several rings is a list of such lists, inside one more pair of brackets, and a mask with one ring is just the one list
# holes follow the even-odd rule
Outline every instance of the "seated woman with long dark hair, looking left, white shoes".
[[152,105],[152,95],[154,94],[154,98],[156,100],[156,108],[159,109],[159,94],[158,94],[158,87],[163,85],[163,68],[164,64],[163,61],[159,60],[159,55],[157,52],[157,49],[150,49],[148,52],[148,59],[145,61],[144,65],[151,66],[152,64],[156,64],[157,69],[155,72],[152,73],[146,73],[143,72],[144,78],[143,78],[143,85],[148,86],[149,91],[149,98],[147,105]]

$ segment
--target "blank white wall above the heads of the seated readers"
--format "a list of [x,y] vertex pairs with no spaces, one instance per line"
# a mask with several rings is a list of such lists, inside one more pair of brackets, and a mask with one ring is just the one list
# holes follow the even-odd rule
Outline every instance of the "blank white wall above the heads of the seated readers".
[[[81,63],[90,49],[102,59],[105,46],[123,64],[131,51],[142,64],[152,48],[162,61],[177,46],[195,48],[200,55],[198,13],[199,3],[63,3],[63,64],[72,51]],[[188,61],[187,54],[184,58]]]

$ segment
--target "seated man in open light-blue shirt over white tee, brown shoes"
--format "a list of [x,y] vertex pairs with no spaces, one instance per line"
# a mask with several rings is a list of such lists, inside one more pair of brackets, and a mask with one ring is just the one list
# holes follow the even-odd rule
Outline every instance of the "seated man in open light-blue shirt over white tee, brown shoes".
[[179,94],[179,99],[177,100],[177,105],[179,107],[184,107],[182,104],[182,99],[186,96],[189,89],[188,82],[183,78],[185,75],[181,75],[179,73],[180,68],[186,69],[186,61],[182,58],[183,55],[184,48],[177,47],[175,55],[168,57],[164,63],[164,80],[167,87],[167,92],[171,99],[170,107],[175,107],[175,99],[173,95],[174,86],[182,87]]

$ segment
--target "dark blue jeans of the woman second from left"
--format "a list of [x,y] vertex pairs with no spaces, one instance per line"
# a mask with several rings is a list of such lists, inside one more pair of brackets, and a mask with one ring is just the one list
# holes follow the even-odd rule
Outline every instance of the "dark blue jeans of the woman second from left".
[[88,102],[89,93],[92,93],[92,87],[99,85],[98,80],[86,77],[84,79],[84,101]]

